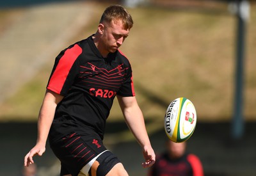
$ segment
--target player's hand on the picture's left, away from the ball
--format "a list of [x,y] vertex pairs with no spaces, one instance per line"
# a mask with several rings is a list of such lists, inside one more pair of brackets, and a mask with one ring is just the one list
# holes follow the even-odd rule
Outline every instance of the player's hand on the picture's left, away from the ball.
[[29,166],[29,164],[33,164],[33,156],[42,156],[45,152],[45,145],[36,144],[28,154],[24,157],[24,166]]

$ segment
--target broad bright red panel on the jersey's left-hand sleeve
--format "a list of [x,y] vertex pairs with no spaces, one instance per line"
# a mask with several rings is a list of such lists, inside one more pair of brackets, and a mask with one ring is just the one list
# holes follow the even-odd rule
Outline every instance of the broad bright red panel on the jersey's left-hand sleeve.
[[68,73],[72,68],[72,65],[76,61],[77,57],[82,53],[82,49],[79,45],[67,49],[54,70],[51,76],[47,89],[52,90],[55,93],[60,94],[61,89],[67,79]]

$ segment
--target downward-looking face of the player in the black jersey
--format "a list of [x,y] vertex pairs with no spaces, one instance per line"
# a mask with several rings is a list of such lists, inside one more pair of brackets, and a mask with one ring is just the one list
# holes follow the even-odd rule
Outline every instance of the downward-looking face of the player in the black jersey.
[[[102,26],[102,51],[115,52],[120,47],[125,38],[129,35],[129,29],[124,29],[121,20],[111,21],[110,24]],[[108,54],[108,53],[107,53]]]

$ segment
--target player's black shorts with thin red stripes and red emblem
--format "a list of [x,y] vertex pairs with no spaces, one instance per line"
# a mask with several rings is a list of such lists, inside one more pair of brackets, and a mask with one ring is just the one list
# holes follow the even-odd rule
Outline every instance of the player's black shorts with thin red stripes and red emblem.
[[92,159],[108,151],[97,136],[79,132],[68,134],[61,140],[55,141],[51,148],[61,161],[61,175],[77,175]]

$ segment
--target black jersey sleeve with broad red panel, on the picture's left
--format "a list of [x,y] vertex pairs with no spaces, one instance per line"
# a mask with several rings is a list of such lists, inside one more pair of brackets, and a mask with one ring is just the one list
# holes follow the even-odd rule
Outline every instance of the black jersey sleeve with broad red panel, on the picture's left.
[[79,72],[77,58],[82,53],[78,44],[62,51],[55,60],[47,89],[60,95],[66,95]]

